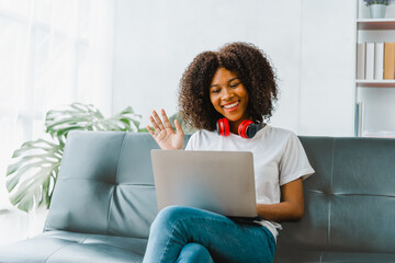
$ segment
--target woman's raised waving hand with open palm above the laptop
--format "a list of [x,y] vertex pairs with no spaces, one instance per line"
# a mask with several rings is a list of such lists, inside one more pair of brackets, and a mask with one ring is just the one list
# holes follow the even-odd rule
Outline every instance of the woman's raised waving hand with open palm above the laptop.
[[[153,117],[154,116],[154,117]],[[166,115],[165,110],[161,110],[160,119],[156,111],[153,111],[153,116],[149,116],[149,121],[153,124],[154,130],[147,125],[147,129],[156,142],[162,150],[181,150],[184,146],[184,133],[180,123],[176,119],[176,133],[171,127],[170,121]]]

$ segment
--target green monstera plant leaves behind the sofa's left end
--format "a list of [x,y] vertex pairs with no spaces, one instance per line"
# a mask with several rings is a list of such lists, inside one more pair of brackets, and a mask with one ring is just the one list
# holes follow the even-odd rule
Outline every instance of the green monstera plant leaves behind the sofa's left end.
[[54,141],[27,141],[12,156],[13,163],[8,167],[5,181],[11,203],[24,211],[49,206],[70,130],[139,132],[139,119],[140,116],[134,114],[132,107],[110,118],[104,118],[94,106],[82,103],[49,111],[45,126]]

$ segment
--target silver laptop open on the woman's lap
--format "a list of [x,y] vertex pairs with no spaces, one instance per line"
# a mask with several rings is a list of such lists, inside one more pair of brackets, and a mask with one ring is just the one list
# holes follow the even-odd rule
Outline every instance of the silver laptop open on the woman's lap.
[[170,205],[257,217],[252,153],[151,150],[158,209]]

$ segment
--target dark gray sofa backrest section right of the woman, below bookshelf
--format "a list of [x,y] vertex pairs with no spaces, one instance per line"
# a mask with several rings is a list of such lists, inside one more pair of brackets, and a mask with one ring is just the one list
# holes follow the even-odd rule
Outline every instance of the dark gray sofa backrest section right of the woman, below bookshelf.
[[281,253],[395,252],[395,139],[300,137],[316,173],[305,215],[283,224]]

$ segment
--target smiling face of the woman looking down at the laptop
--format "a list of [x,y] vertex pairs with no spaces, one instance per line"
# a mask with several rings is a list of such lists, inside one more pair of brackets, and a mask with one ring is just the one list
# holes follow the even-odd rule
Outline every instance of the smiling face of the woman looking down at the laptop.
[[249,118],[247,112],[248,93],[236,73],[218,68],[210,85],[210,100],[214,108],[229,121],[230,132]]

